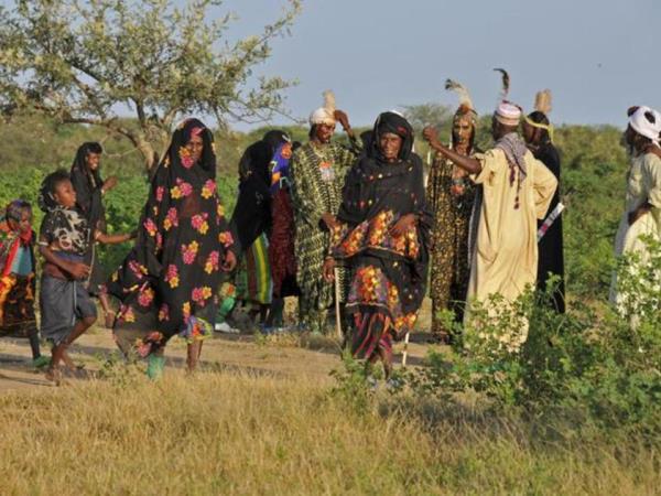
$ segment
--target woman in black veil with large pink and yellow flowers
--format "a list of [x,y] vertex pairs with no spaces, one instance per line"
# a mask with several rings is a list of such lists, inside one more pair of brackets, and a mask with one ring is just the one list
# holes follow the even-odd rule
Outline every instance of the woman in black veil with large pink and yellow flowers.
[[108,282],[122,302],[115,337],[124,352],[150,357],[161,375],[167,341],[188,343],[195,368],[202,341],[213,333],[220,271],[236,266],[234,238],[216,191],[212,131],[185,120],[152,180],[136,246]]

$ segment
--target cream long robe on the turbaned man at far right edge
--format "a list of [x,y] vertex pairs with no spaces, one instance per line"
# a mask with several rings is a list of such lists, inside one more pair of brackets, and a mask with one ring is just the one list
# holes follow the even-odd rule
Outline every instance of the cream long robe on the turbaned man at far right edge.
[[[629,213],[644,202],[652,205],[651,211],[629,225]],[[661,239],[661,159],[654,153],[643,153],[631,161],[627,174],[625,212],[615,238],[615,256],[638,252],[641,261],[644,261],[648,257],[648,248],[641,240],[641,236],[644,235]],[[614,277],[610,301],[619,303],[621,298],[622,294],[617,291],[617,279]]]

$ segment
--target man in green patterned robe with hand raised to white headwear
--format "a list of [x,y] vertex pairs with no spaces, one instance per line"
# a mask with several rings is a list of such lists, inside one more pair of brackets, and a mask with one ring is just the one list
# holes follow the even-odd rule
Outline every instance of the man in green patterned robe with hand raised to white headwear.
[[[310,116],[310,142],[294,152],[290,173],[296,227],[295,254],[297,263],[299,321],[305,331],[324,333],[328,308],[333,304],[334,288],[324,281],[323,265],[328,251],[329,230],[342,204],[345,175],[354,165],[360,145],[349,126],[348,117],[328,105]],[[350,147],[332,142],[338,121],[351,142]],[[338,283],[345,300],[346,277],[339,268]]]

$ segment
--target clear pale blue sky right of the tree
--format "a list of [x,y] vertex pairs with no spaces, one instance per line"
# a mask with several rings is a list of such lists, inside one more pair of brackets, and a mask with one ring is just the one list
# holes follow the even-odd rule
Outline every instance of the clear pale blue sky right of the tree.
[[[256,32],[282,0],[226,0],[240,19],[228,33]],[[550,88],[556,123],[624,126],[632,105],[661,108],[661,0],[303,0],[291,36],[272,43],[258,73],[296,78],[286,106],[307,117],[336,93],[353,123],[383,110],[435,101],[462,82],[480,114],[511,76],[510,99],[531,110]],[[275,122],[282,123],[282,119]],[[241,127],[241,126],[239,126]]]

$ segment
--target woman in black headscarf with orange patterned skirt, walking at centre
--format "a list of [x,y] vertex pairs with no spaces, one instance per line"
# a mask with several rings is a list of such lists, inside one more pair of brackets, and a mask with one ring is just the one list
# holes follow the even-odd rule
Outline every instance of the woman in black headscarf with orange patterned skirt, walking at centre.
[[324,277],[335,259],[347,260],[353,281],[351,352],[389,375],[392,338],[412,331],[425,294],[432,217],[423,166],[412,152],[413,130],[398,114],[379,116],[365,157],[347,175]]

